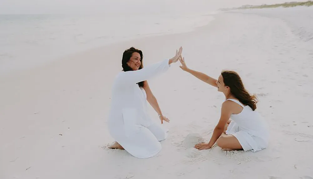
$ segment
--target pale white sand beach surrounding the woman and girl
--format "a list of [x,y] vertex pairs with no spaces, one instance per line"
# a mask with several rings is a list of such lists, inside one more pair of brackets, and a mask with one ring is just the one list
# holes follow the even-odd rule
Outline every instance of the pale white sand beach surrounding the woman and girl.
[[[115,44],[2,77],[0,178],[312,178],[313,40],[304,37],[313,8],[297,10],[225,13],[195,32]],[[213,77],[222,69],[239,72],[259,96],[269,147],[255,153],[186,147],[191,133],[209,140],[224,97],[175,64],[149,82],[171,120],[164,124],[169,136],[162,151],[137,159],[107,149],[113,142],[106,125],[111,84],[131,46],[143,50],[145,65],[183,46],[192,69]],[[150,114],[158,120],[152,108]]]

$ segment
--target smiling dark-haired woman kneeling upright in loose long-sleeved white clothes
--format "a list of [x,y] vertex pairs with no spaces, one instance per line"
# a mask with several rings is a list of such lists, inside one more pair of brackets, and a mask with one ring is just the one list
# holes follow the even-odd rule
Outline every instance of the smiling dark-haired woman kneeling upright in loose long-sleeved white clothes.
[[166,72],[171,63],[178,61],[182,47],[167,60],[144,67],[141,50],[131,47],[122,57],[122,68],[112,87],[112,101],[108,126],[110,135],[116,140],[109,148],[125,149],[137,158],[155,156],[161,150],[159,141],[167,137],[160,124],[151,120],[147,102],[158,113],[161,120],[169,122],[153,96],[146,80]]

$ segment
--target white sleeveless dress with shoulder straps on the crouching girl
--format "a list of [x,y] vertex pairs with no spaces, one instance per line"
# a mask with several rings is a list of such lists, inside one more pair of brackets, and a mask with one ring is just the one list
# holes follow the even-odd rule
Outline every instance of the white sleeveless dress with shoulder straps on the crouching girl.
[[257,112],[251,107],[244,106],[238,100],[227,99],[236,102],[243,110],[239,114],[232,114],[229,126],[226,130],[226,135],[236,137],[244,149],[244,151],[252,150],[253,152],[260,151],[268,146],[269,130],[268,125]]

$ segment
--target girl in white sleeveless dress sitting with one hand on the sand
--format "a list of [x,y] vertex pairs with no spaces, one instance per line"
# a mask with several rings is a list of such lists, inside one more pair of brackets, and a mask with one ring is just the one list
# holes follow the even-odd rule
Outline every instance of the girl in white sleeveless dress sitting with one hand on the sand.
[[217,79],[189,69],[180,57],[180,68],[223,92],[221,117],[208,143],[195,145],[198,150],[210,149],[216,142],[224,150],[253,152],[268,146],[269,132],[265,121],[256,110],[256,96],[250,95],[236,72],[223,71]]

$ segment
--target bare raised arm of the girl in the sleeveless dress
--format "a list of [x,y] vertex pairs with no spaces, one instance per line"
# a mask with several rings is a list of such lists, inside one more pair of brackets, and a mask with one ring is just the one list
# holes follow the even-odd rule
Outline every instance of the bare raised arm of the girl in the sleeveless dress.
[[206,82],[210,85],[212,85],[213,87],[217,87],[217,79],[214,79],[212,77],[209,77],[208,75],[202,73],[202,72],[198,72],[192,69],[189,69],[185,63],[185,58],[183,58],[182,56],[179,57],[179,62],[182,64],[181,66],[179,66],[182,70],[192,74],[193,76],[197,77],[198,79],[202,80],[203,82]]

